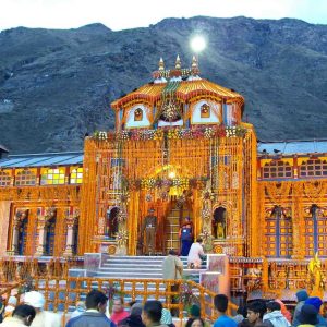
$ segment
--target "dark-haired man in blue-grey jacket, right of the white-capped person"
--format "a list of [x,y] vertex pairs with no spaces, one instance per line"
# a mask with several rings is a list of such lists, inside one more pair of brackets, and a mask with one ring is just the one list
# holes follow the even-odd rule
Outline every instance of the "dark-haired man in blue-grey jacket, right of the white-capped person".
[[70,319],[65,327],[114,327],[116,325],[105,315],[107,302],[108,298],[102,292],[98,290],[92,290],[86,295],[86,311],[82,313],[82,315]]

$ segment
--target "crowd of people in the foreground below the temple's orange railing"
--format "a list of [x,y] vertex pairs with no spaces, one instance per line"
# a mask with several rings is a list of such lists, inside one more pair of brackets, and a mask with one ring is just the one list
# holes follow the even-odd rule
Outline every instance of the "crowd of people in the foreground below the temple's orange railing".
[[[174,254],[171,262],[178,262]],[[178,258],[178,259],[177,259]],[[0,305],[0,320],[3,327],[60,327],[63,319],[60,314],[45,310],[45,298],[40,292],[25,293],[23,304],[11,296],[4,307]],[[214,304],[217,320],[214,327],[312,327],[327,326],[326,319],[320,315],[322,299],[308,296],[305,290],[296,293],[298,304],[294,313],[280,300],[254,300],[245,306],[238,308],[237,315],[228,316],[228,296],[217,294]],[[125,310],[123,299],[114,298],[112,312],[108,315],[108,298],[99,290],[92,290],[85,302],[78,301],[75,311],[70,315],[65,327],[175,327],[173,311],[162,307],[160,301],[149,300],[144,304],[131,302]],[[183,323],[184,327],[211,326],[201,316],[201,308],[193,304],[190,318]],[[2,320],[3,319],[3,320]],[[179,325],[181,326],[181,325]]]

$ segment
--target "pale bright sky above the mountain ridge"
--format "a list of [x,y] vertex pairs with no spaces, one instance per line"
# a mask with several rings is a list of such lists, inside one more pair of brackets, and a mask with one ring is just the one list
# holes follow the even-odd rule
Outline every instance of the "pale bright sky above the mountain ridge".
[[0,0],[0,31],[17,26],[113,31],[147,27],[166,17],[292,17],[327,24],[327,0]]

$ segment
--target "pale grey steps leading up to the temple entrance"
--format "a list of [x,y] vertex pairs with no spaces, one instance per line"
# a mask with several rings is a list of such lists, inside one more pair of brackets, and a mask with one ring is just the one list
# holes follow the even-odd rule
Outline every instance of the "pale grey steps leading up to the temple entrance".
[[[184,265],[184,276],[199,282],[199,272],[205,271],[206,263],[202,269],[187,269],[187,257],[180,257]],[[132,278],[132,279],[162,279],[162,262],[165,256],[110,256],[99,269],[92,271],[99,278]]]

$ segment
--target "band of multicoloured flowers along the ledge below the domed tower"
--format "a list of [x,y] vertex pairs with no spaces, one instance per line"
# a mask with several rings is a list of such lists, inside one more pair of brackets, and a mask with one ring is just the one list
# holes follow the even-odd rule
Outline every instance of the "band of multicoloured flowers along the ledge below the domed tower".
[[[182,128],[162,128],[158,130],[125,130],[114,134],[116,141],[147,141],[162,140],[167,136],[170,140],[195,140],[195,138],[215,138],[215,137],[243,137],[246,129],[243,126],[195,126],[191,129]],[[95,140],[107,141],[107,132],[95,132]]]

